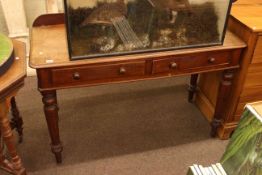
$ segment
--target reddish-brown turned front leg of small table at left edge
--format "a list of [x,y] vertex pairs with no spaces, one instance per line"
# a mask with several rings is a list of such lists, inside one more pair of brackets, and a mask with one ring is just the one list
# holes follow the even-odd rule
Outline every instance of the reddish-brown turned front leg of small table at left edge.
[[0,102],[0,127],[1,127],[1,135],[3,137],[4,144],[8,150],[8,153],[11,158],[11,162],[4,157],[1,148],[1,158],[0,164],[3,169],[12,172],[15,175],[25,175],[26,171],[22,165],[21,159],[17,154],[15,141],[12,133],[12,129],[10,127],[10,122],[8,119],[8,105],[6,101]]

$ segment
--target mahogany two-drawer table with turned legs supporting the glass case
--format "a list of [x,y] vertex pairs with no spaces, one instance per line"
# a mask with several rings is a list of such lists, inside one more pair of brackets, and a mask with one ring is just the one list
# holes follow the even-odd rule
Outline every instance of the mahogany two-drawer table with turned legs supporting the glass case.
[[[227,32],[225,43],[220,46],[70,61],[64,15],[40,16],[33,24],[29,64],[37,71],[51,150],[57,163],[62,162],[63,147],[59,136],[56,90],[222,70],[220,88],[214,90],[218,99],[210,122],[211,135],[216,136],[225,116],[234,72],[239,68],[245,47],[242,40]],[[196,87],[194,78],[190,87],[189,101]]]

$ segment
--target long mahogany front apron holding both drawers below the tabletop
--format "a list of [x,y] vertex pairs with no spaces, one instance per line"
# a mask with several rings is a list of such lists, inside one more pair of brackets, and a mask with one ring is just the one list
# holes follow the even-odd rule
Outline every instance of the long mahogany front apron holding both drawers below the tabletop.
[[240,66],[241,49],[37,69],[40,91],[182,76]]

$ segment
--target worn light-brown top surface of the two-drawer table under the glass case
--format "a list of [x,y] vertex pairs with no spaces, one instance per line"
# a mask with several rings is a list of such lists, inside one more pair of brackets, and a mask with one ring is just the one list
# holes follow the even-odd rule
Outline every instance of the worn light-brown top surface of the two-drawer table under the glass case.
[[[228,31],[223,46],[165,51],[165,55],[179,55],[186,53],[206,52],[244,47],[246,47],[246,44],[242,40],[237,38],[234,34]],[[32,68],[41,69],[60,66],[74,66],[89,63],[122,61],[127,59],[132,60],[139,58],[151,58],[162,55],[163,52],[154,52],[117,56],[117,58],[104,57],[70,61],[68,55],[65,26],[63,24],[60,24],[52,26],[34,27],[32,29],[29,65]]]

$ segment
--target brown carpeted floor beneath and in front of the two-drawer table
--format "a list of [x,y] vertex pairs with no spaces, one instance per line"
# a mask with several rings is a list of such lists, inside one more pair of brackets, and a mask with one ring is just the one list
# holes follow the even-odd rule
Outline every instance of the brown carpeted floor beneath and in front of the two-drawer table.
[[[189,165],[219,160],[227,141],[187,103],[187,81],[169,78],[58,91],[63,164],[56,165],[36,78],[17,96],[32,175],[185,175]],[[0,174],[5,174],[0,170]]]

